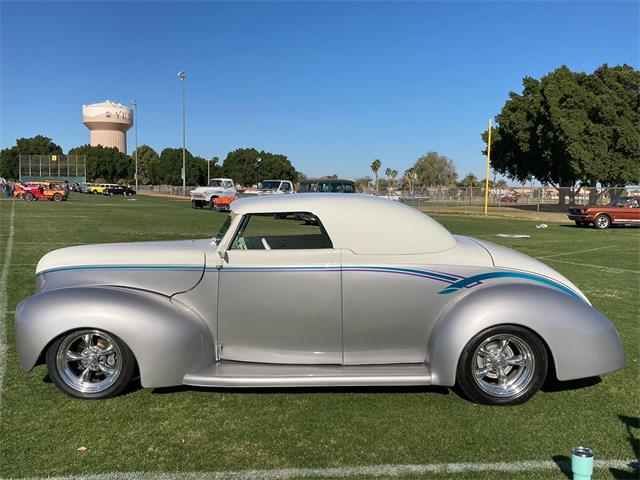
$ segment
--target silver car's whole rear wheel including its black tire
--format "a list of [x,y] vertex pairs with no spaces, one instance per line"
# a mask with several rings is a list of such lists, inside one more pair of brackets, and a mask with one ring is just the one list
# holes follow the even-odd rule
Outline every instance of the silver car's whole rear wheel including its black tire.
[[[502,348],[502,339],[511,339]],[[485,347],[489,355],[481,353]],[[504,351],[504,355],[502,352]],[[523,365],[508,364],[521,357]],[[484,359],[495,362],[495,371]],[[473,337],[465,346],[458,360],[457,385],[474,403],[484,405],[516,405],[529,400],[544,383],[547,376],[547,349],[540,338],[526,328],[501,325],[484,330]],[[488,370],[483,377],[476,372]],[[501,385],[500,377],[506,383]],[[494,384],[495,381],[495,384]]]

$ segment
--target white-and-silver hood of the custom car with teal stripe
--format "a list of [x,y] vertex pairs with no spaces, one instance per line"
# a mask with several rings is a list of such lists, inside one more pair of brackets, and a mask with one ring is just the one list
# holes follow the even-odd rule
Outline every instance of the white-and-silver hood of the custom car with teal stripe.
[[46,254],[36,267],[38,290],[117,285],[164,295],[189,290],[202,278],[210,240],[81,245]]

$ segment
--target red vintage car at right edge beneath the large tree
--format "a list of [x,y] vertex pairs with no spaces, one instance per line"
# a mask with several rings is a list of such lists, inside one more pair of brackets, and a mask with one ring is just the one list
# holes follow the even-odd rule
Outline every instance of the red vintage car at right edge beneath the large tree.
[[571,207],[568,216],[579,227],[590,223],[600,229],[611,225],[640,225],[640,196],[618,197],[607,205]]

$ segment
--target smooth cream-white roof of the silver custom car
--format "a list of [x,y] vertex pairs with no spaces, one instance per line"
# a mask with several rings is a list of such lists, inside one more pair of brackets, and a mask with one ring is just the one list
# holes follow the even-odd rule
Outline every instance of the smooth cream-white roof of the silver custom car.
[[354,193],[305,193],[240,198],[231,203],[238,215],[309,212],[316,215],[335,248],[358,254],[416,254],[448,250],[457,244],[448,230],[402,203]]

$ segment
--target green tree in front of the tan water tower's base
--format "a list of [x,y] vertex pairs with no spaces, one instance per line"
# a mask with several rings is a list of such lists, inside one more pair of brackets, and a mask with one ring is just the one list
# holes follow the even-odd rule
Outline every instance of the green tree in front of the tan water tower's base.
[[133,160],[116,147],[82,145],[72,148],[68,154],[87,156],[87,180],[91,182],[133,181]]

